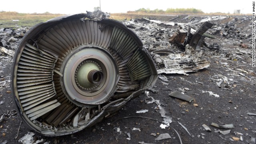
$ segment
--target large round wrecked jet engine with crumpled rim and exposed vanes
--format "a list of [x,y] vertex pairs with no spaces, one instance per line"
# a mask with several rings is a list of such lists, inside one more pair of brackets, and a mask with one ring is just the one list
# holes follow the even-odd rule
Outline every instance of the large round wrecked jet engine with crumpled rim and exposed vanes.
[[60,136],[108,118],[157,76],[132,30],[76,14],[40,23],[23,37],[11,86],[22,119],[36,132]]

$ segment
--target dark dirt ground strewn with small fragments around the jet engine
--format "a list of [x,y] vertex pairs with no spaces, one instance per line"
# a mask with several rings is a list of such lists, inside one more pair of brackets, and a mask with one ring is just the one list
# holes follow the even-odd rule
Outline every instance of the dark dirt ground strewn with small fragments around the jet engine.
[[[190,23],[195,29],[202,24],[196,24],[203,19],[201,17],[184,19],[185,17],[174,22]],[[188,76],[159,74],[160,77],[166,76],[168,81],[163,83],[158,79],[153,90],[131,100],[114,116],[67,136],[46,137],[34,132],[24,122],[20,125],[22,120],[19,114],[12,111],[16,108],[8,85],[12,57],[2,53],[0,114],[8,115],[9,119],[0,122],[0,144],[21,143],[19,140],[26,134],[30,134],[34,140],[32,144],[36,144],[37,140],[40,144],[180,144],[180,140],[182,144],[255,144],[256,116],[249,115],[256,113],[256,68],[252,67],[250,35],[252,20],[248,16],[233,16],[212,19],[210,22],[214,27],[207,32],[215,39],[205,38],[209,47],[202,46],[200,50],[202,58],[210,61],[208,68],[188,73]],[[184,52],[183,48],[168,42],[168,38],[178,29],[177,25],[148,21],[138,23],[124,22],[128,26],[134,26],[131,29],[138,34],[150,52],[163,48],[180,54]],[[150,27],[157,28],[158,32],[152,31]],[[10,42],[8,49],[15,49],[19,40],[20,38],[16,42]],[[212,50],[211,44],[218,48]],[[194,100],[185,102],[170,97],[169,94],[174,91],[183,92]],[[136,113],[139,110],[148,111]],[[163,121],[162,110],[165,111],[165,116],[172,118],[170,126],[165,129],[160,128],[160,122]],[[216,128],[211,126],[212,122],[219,125],[233,124],[234,128]],[[203,124],[209,126],[211,131],[206,131]],[[224,135],[218,130],[230,132]],[[155,140],[165,133],[171,138]],[[15,138],[17,134],[19,135]],[[240,140],[236,141],[236,138]]]

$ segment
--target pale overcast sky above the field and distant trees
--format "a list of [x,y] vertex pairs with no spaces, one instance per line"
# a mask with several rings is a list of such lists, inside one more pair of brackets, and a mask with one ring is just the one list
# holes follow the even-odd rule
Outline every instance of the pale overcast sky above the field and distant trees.
[[[1,2],[0,11],[20,13],[77,14],[93,11],[100,6],[101,10],[110,13],[134,11],[139,8],[196,8],[203,12],[230,12],[241,10],[242,14],[252,13],[252,0],[11,0]],[[4,4],[6,3],[6,4]]]

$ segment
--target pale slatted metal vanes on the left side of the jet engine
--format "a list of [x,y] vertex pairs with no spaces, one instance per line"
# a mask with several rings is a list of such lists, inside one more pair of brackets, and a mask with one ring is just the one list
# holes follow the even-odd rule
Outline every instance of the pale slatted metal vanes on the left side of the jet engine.
[[52,83],[52,73],[57,57],[41,52],[38,48],[26,44],[18,62],[17,88],[23,110],[30,120],[56,108],[57,100],[47,102],[56,96]]

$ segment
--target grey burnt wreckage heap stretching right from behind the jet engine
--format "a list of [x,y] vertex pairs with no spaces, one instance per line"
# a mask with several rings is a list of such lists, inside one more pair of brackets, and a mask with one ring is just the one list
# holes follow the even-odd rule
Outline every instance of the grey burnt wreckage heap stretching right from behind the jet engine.
[[[144,18],[124,22],[138,34],[153,57],[158,57],[158,61],[155,60],[158,74],[186,74],[207,68],[210,61],[206,57],[209,56],[250,64],[252,18],[249,16],[173,19]],[[230,44],[232,47],[227,46]]]

